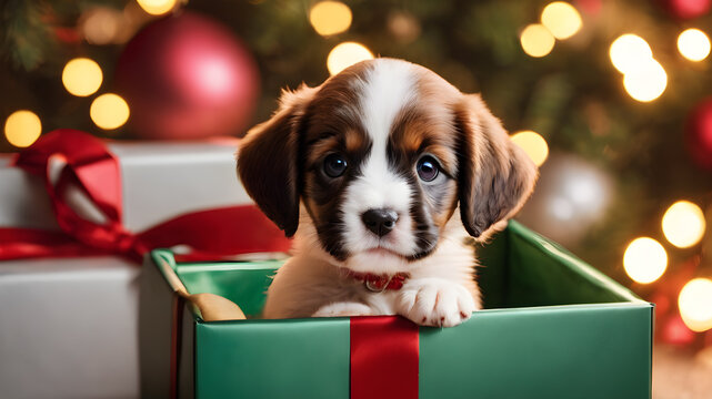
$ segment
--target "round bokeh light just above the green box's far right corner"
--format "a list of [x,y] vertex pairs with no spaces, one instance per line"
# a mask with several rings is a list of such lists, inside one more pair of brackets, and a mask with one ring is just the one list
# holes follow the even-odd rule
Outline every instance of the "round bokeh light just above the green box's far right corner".
[[650,237],[635,238],[625,249],[623,268],[634,282],[652,283],[665,273],[668,253],[659,242]]

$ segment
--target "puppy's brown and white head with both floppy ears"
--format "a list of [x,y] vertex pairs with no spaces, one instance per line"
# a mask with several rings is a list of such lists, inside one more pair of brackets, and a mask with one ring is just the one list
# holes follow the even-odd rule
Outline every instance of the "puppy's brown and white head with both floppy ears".
[[301,202],[335,263],[383,272],[432,253],[458,205],[481,237],[519,209],[536,176],[478,95],[393,59],[283,93],[243,140],[238,172],[287,236]]

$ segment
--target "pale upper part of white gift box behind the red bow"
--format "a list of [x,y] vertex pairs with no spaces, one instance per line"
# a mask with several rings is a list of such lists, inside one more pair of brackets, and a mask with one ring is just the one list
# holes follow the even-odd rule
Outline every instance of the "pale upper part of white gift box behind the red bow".
[[[176,215],[249,204],[238,182],[238,142],[109,142],[121,168],[123,225],[142,231]],[[59,229],[44,184],[0,154],[0,226]],[[160,193],[160,195],[157,195]]]

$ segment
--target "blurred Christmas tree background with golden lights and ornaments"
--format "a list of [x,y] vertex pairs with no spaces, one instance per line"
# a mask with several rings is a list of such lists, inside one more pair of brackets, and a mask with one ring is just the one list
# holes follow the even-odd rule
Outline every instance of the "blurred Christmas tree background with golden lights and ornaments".
[[712,0],[1,7],[6,153],[59,127],[241,136],[282,88],[378,55],[481,92],[541,165],[519,218],[656,304],[655,397],[712,397]]

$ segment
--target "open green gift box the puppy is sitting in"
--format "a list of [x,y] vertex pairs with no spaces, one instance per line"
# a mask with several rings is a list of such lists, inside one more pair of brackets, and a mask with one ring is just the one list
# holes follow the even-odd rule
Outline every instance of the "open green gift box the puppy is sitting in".
[[[418,397],[651,397],[652,304],[517,222],[477,253],[484,309],[457,327],[417,329]],[[147,256],[142,395],[348,398],[351,319],[250,319],[280,265]],[[192,294],[229,298],[248,319],[204,321],[176,294],[176,277]]]

